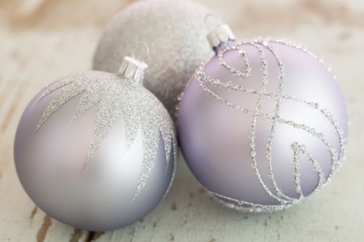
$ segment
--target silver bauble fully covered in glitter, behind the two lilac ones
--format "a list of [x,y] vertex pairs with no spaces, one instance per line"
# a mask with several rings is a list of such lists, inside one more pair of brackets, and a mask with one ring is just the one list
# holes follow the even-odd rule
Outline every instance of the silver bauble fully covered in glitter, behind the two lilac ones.
[[107,25],[94,55],[94,69],[116,72],[137,41],[150,46],[144,86],[174,118],[177,96],[202,61],[213,55],[206,40],[205,16],[211,12],[186,0],[137,1]]

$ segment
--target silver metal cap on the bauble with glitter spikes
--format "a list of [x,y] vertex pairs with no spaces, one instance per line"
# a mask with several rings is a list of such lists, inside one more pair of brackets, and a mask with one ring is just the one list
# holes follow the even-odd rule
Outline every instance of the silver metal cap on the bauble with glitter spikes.
[[132,78],[137,84],[143,83],[144,73],[148,65],[133,57],[125,56],[119,68],[119,74],[125,78]]

